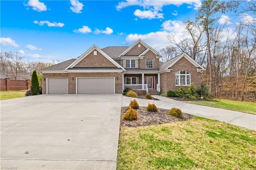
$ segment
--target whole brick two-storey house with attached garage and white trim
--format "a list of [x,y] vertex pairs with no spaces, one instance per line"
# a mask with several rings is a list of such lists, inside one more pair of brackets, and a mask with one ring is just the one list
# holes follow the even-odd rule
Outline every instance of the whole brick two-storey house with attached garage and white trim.
[[186,53],[166,63],[160,57],[140,39],[130,47],[93,45],[77,59],[41,69],[43,94],[122,93],[126,87],[157,94],[200,86],[205,69]]

